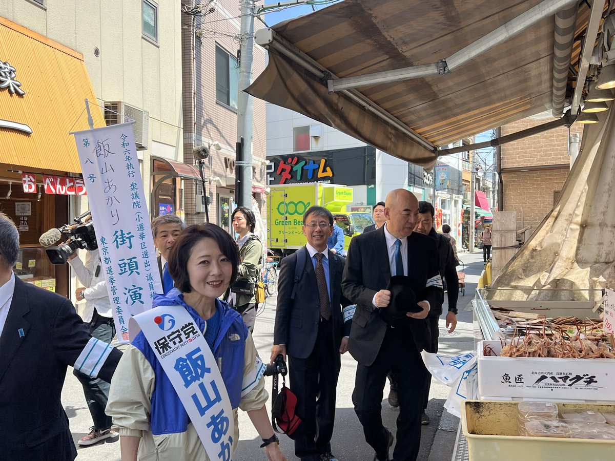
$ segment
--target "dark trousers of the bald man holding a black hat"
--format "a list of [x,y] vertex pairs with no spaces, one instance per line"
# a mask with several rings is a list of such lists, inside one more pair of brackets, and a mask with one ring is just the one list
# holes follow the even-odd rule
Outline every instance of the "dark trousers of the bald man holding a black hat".
[[393,458],[414,461],[421,444],[421,405],[427,370],[408,328],[387,328],[374,363],[357,364],[352,403],[363,425],[365,441],[380,459],[386,459],[389,441],[381,415],[384,382],[389,371],[395,374],[399,400]]

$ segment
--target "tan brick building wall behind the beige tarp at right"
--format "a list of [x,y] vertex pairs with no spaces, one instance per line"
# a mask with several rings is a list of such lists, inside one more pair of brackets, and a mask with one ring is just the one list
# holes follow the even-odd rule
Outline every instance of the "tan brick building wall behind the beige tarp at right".
[[[501,136],[549,122],[552,119],[523,119],[501,127]],[[582,136],[582,125],[571,132]],[[551,165],[568,165],[568,128],[557,128],[504,144],[502,154],[502,211],[517,211],[517,228],[536,229],[552,210],[554,192],[561,191],[569,168],[547,169]],[[506,171],[506,168],[530,167],[529,171]],[[533,167],[533,168],[532,168]],[[522,221],[523,215],[523,221]]]

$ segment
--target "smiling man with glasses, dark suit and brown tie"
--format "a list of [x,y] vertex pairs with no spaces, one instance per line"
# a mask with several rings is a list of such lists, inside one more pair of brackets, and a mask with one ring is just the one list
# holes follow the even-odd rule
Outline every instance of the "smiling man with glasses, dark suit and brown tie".
[[295,455],[302,461],[336,461],[331,454],[340,354],[346,352],[341,305],[344,258],[327,250],[333,215],[311,207],[303,216],[306,246],[282,259],[277,283],[276,325],[271,361],[290,358],[290,389],[297,396]]

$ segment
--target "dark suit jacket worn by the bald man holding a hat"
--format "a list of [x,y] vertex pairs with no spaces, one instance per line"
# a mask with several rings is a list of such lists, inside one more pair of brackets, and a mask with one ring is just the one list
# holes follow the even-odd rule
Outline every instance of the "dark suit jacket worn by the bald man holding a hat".
[[[428,281],[439,278],[438,250],[435,240],[412,232],[408,237],[408,277],[423,291],[416,292],[418,301],[429,301],[432,308],[442,305],[442,288]],[[353,237],[348,248],[342,287],[344,295],[357,304],[352,318],[348,351],[360,364],[370,366],[376,360],[386,333],[387,324],[371,301],[379,290],[386,290],[391,278],[384,226]],[[386,309],[386,308],[384,308]],[[431,334],[426,319],[409,320],[409,331],[419,352],[429,349]]]

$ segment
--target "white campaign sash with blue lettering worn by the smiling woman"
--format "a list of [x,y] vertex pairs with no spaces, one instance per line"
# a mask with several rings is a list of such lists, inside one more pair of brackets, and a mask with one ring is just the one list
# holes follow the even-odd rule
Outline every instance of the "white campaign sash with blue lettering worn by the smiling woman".
[[209,459],[231,461],[235,433],[231,400],[212,350],[191,315],[180,305],[163,305],[130,318],[130,323],[131,337],[139,327],[145,334]]

